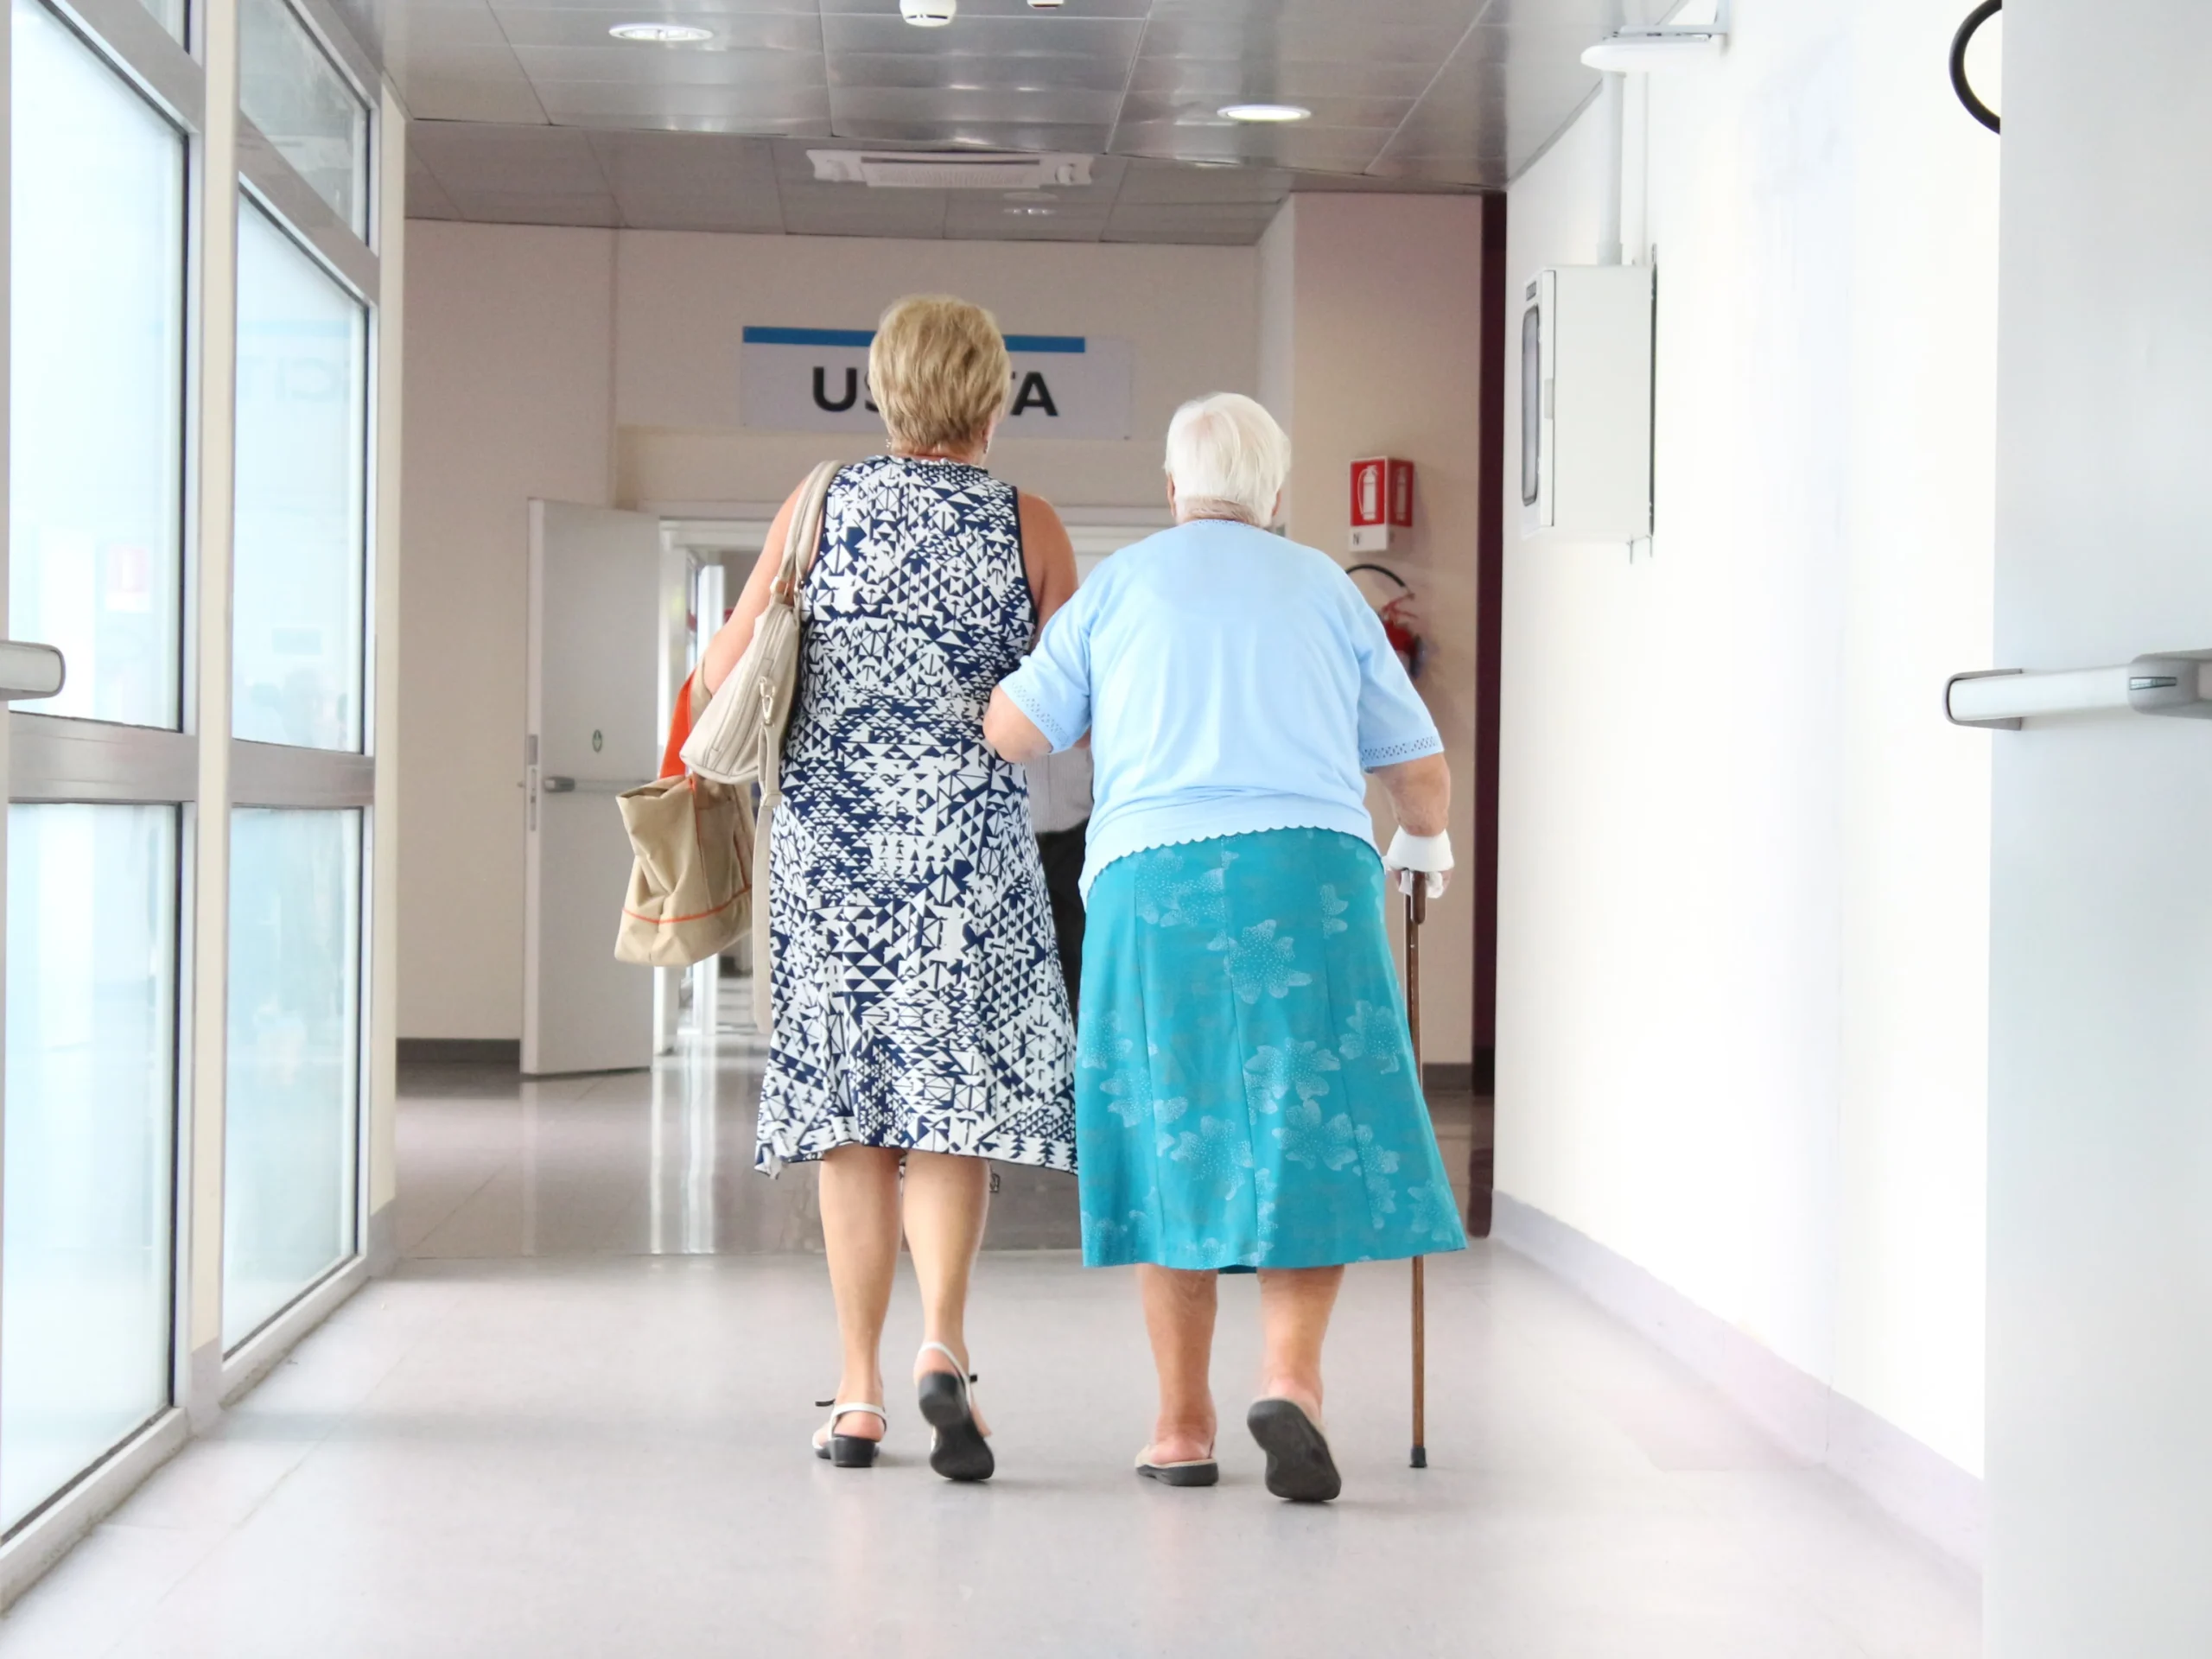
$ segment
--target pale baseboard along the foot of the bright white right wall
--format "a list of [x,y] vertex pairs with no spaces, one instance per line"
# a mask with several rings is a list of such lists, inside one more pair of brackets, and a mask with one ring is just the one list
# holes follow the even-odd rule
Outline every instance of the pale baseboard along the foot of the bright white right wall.
[[1823,1464],[1962,1566],[1982,1571],[1982,1482],[1564,1221],[1493,1194],[1491,1237],[1528,1256],[1725,1394],[1787,1451]]

